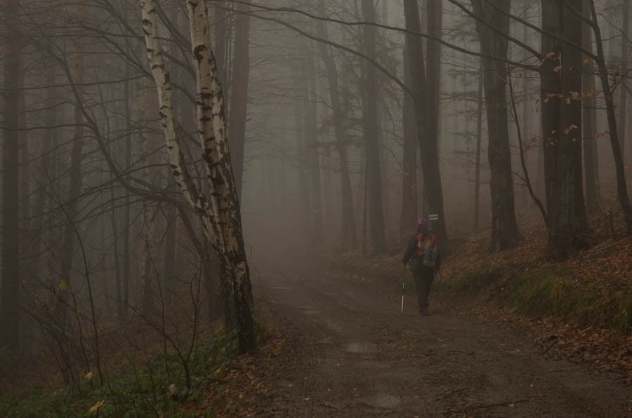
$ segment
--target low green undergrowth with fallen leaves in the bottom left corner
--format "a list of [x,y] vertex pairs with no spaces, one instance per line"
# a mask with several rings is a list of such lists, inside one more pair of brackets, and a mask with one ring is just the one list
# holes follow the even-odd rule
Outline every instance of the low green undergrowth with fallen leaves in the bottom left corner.
[[[237,353],[237,339],[234,333],[228,339],[200,339],[193,350],[187,364],[189,388],[177,353],[156,349],[105,371],[102,384],[95,371],[81,386],[33,387],[28,393],[3,396],[0,417],[199,416],[189,406],[209,382],[225,374],[229,358]],[[170,384],[178,387],[178,396],[172,396]]]

